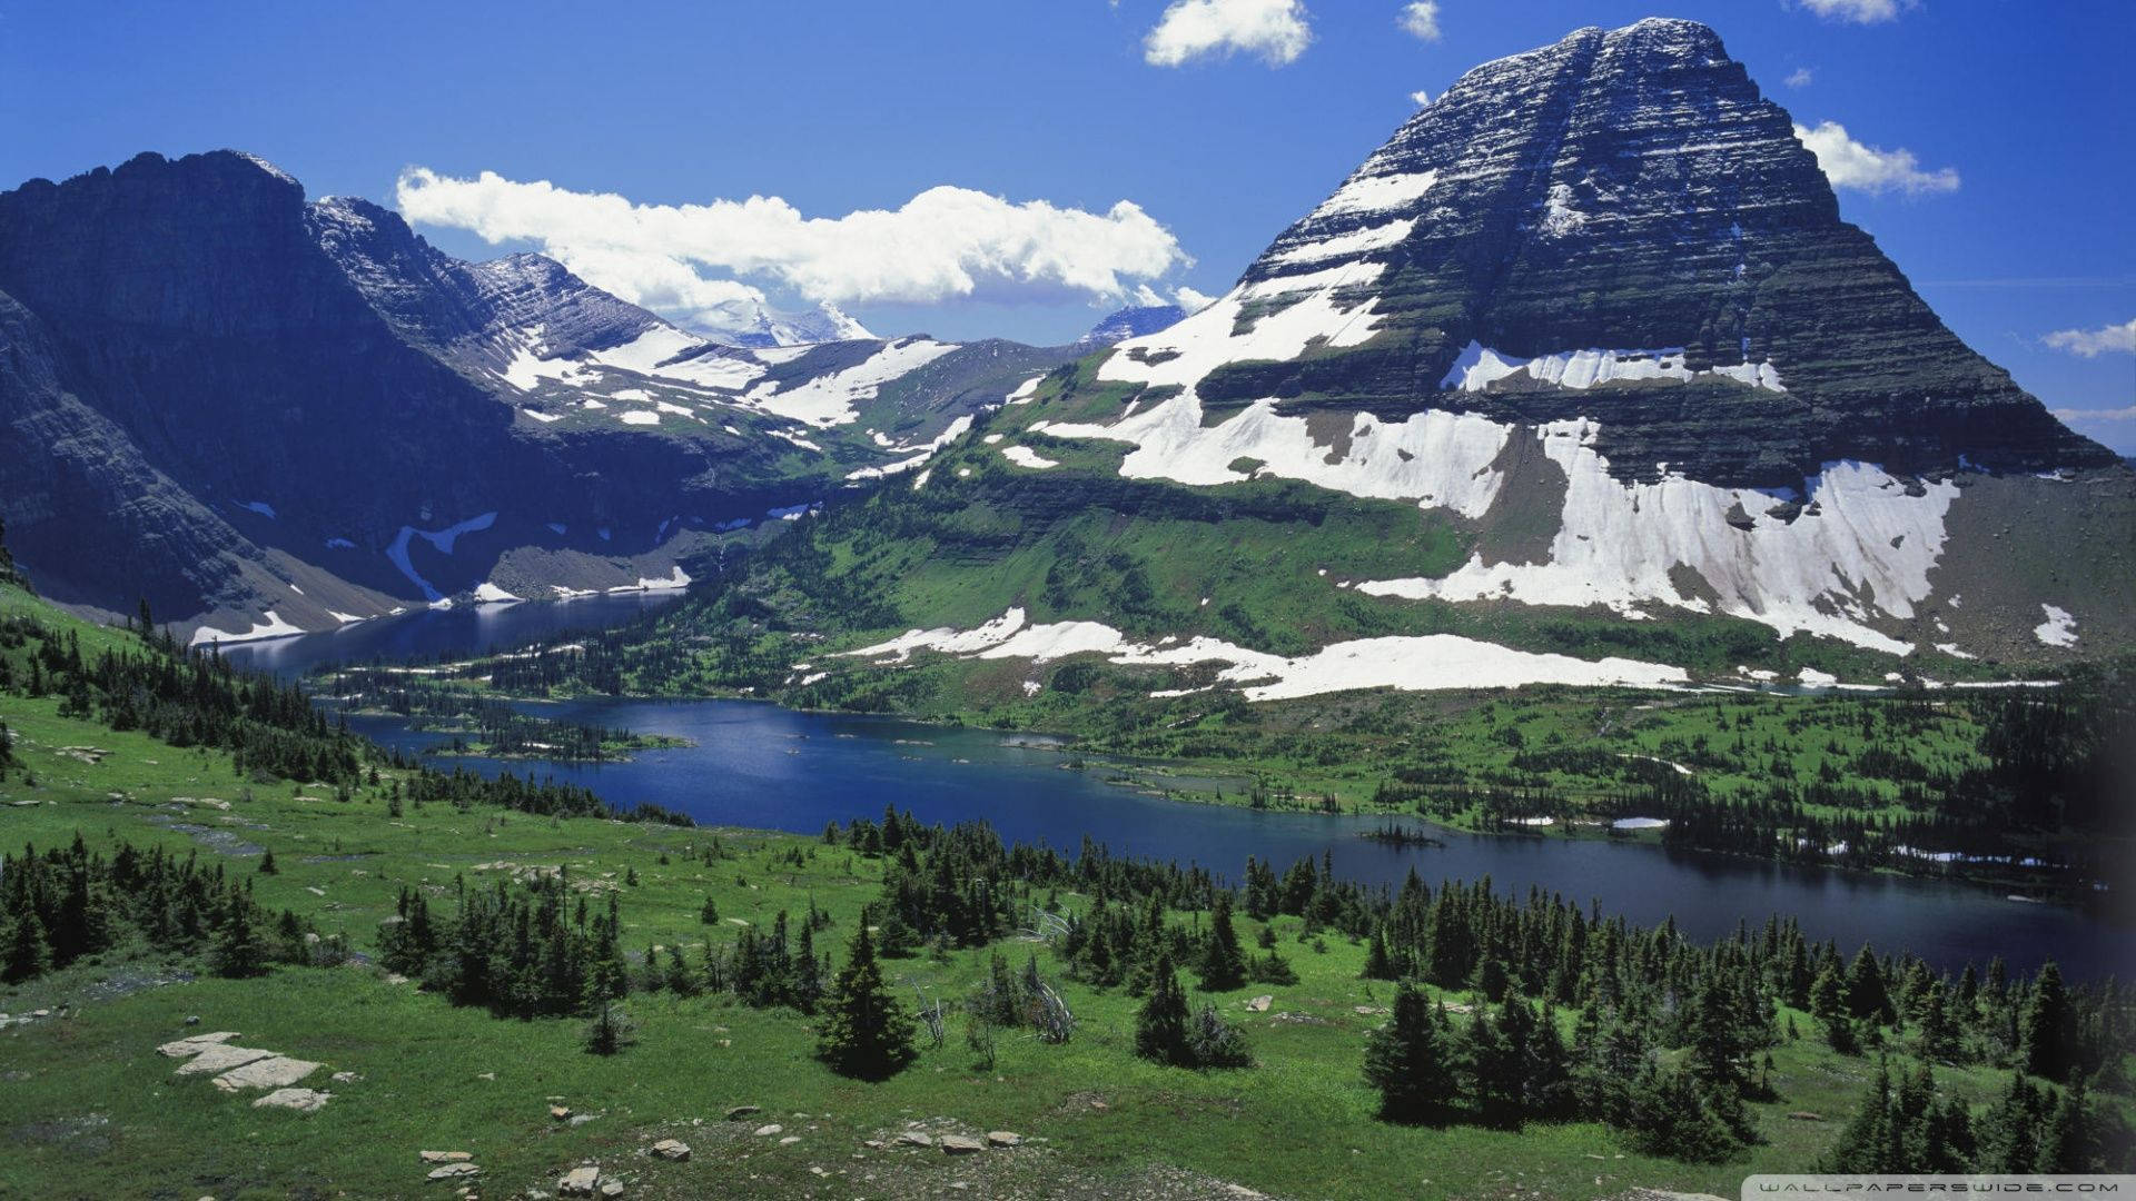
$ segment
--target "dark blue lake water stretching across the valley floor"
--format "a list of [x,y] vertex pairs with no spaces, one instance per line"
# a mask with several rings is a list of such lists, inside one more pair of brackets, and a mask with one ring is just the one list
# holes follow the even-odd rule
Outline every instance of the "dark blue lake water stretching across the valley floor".
[[[370,639],[314,635],[237,652],[258,667],[305,671],[333,658],[487,650],[643,609],[611,600],[517,605],[478,613],[419,613],[410,628],[378,624]],[[577,609],[572,613],[572,609]],[[442,618],[442,622],[440,622]],[[352,633],[352,630],[350,630]],[[348,648],[361,648],[348,654]],[[1256,812],[1173,801],[1109,782],[1119,765],[1030,746],[1023,735],[944,729],[895,718],[797,714],[750,701],[570,701],[538,705],[566,720],[688,737],[694,746],[639,754],[630,763],[572,765],[457,759],[496,774],[530,771],[585,784],[617,804],[658,801],[701,823],[816,833],[827,821],[880,816],[884,806],[929,823],[985,818],[1008,840],[1074,851],[1083,838],[1115,853],[1203,863],[1237,878],[1247,855],[1279,868],[1331,853],[1335,872],[1399,885],[1416,868],[1427,883],[1489,876],[1502,891],[1529,887],[1651,925],[1675,917],[1696,938],[1717,938],[1771,913],[1794,915],[1811,938],[1907,947],[1937,966],[2001,955],[2014,968],[2057,960],[2078,977],[2136,974],[2136,936],[2068,908],[2021,904],[1939,880],[1790,868],[1655,846],[1502,838],[1433,831],[1446,846],[1386,846],[1361,838],[1384,818]],[[370,737],[423,750],[442,735],[391,718],[350,718]],[[1130,771],[1132,774],[1132,771]],[[1207,786],[1207,784],[1203,784]]]

